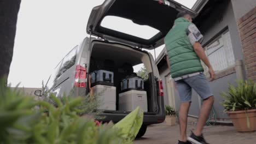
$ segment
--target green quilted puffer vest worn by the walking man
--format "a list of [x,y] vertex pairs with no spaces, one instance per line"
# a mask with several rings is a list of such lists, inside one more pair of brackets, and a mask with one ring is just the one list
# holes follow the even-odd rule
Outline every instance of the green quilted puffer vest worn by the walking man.
[[165,37],[173,79],[203,71],[200,58],[188,39],[187,29],[190,24],[187,19],[181,17],[176,19],[173,28]]

